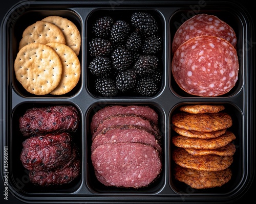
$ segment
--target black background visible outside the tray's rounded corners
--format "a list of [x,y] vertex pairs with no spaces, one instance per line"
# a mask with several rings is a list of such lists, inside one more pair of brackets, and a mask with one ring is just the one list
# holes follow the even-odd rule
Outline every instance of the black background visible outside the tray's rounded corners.
[[[7,13],[7,11],[14,4],[16,4],[18,2],[19,2],[18,0],[4,0],[4,1],[1,1],[1,5],[0,5],[0,22],[2,22],[2,20],[3,20],[4,16],[5,16],[5,14]],[[244,1],[238,1],[238,2],[240,2],[247,9],[248,14],[251,16],[251,18],[255,19],[255,17],[256,17],[256,15],[255,15],[255,13],[256,13],[256,10],[255,10],[256,9],[256,7],[255,7],[256,6],[256,1],[244,0]],[[255,21],[254,21],[254,31],[253,31],[254,34],[253,34],[253,40],[252,40],[253,44],[255,44],[255,26],[256,25],[255,25]],[[254,59],[254,61],[255,61],[255,59]],[[255,62],[254,62],[254,66],[255,66]],[[256,69],[256,67],[254,67],[254,70],[255,69]],[[255,73],[254,73],[254,76],[255,76]],[[254,86],[254,90],[255,90],[255,86]],[[254,103],[255,103],[255,98],[254,98]],[[254,104],[254,107],[255,107],[255,104]],[[255,112],[255,110],[254,110],[254,112]],[[254,118],[254,122],[255,122],[255,116],[253,116],[253,118]],[[255,141],[255,139],[254,139],[254,141]],[[255,146],[256,145],[254,145],[254,147]],[[1,151],[2,151],[2,146],[1,146]],[[255,150],[254,150],[254,152],[255,152]],[[254,156],[254,158],[255,158],[255,156]],[[254,171],[255,171],[255,163],[253,165],[254,165]],[[256,181],[255,181],[255,176],[254,176],[253,183],[251,184],[251,186],[248,189],[248,191],[245,192],[236,202],[232,202],[232,203],[254,203],[255,202],[255,198],[256,198],[255,190],[254,190],[255,189],[255,184],[256,184]],[[0,202],[3,203],[3,204],[9,204],[9,203],[21,204],[21,203],[23,203],[23,202],[20,202],[17,199],[15,199],[11,195],[10,192],[8,194],[8,201],[4,200],[3,191],[4,191],[4,185],[3,185],[2,175],[1,175],[1,179],[0,179],[0,200],[1,201]]]

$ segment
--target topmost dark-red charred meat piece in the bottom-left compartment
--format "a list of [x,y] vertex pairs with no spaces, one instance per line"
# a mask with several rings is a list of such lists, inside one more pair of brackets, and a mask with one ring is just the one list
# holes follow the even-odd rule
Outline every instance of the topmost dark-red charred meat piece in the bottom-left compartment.
[[73,106],[31,108],[19,118],[19,128],[24,136],[51,132],[75,132],[78,124],[78,111]]

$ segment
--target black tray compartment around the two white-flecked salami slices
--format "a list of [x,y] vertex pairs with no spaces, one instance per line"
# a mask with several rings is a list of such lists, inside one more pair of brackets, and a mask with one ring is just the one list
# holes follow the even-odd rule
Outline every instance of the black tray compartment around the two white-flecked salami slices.
[[242,88],[244,79],[243,79],[243,72],[245,67],[245,59],[244,55],[242,55],[241,50],[243,45],[243,39],[245,36],[245,31],[243,29],[243,22],[241,21],[241,18],[239,14],[235,11],[232,11],[232,9],[227,9],[225,7],[223,8],[216,8],[216,7],[206,7],[200,10],[200,12],[191,11],[191,9],[179,9],[177,10],[169,19],[169,30],[170,30],[170,63],[169,63],[169,87],[172,90],[172,92],[177,95],[178,97],[201,97],[196,95],[191,95],[183,91],[176,81],[174,80],[173,73],[172,73],[172,58],[173,54],[171,52],[172,50],[172,43],[174,35],[177,31],[177,29],[180,27],[180,25],[188,20],[189,18],[193,17],[197,14],[208,14],[208,15],[215,15],[219,19],[223,20],[227,24],[230,25],[230,27],[234,30],[237,36],[237,54],[238,54],[238,61],[239,61],[239,73],[238,73],[238,81],[236,85],[226,94],[223,94],[221,96],[217,97],[230,97],[236,95]]

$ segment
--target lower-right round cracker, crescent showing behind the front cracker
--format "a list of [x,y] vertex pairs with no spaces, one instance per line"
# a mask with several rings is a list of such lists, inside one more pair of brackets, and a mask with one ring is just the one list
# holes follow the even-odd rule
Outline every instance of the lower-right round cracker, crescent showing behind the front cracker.
[[47,45],[58,54],[62,64],[61,80],[50,94],[62,95],[68,93],[77,85],[80,79],[80,61],[73,49],[65,44],[52,42]]

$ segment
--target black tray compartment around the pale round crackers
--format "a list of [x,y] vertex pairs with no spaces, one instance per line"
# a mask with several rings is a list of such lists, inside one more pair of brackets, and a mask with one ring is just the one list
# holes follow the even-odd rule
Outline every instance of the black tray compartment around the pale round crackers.
[[[31,94],[28,91],[26,91],[23,86],[17,81],[15,77],[15,72],[13,69],[14,66],[14,61],[16,59],[17,53],[18,53],[18,46],[19,46],[19,41],[22,39],[22,35],[24,30],[31,24],[35,23],[38,20],[42,20],[43,18],[47,16],[60,16],[63,18],[67,18],[70,21],[72,21],[76,27],[78,28],[80,35],[82,37],[82,22],[77,13],[75,13],[72,10],[66,9],[48,9],[48,10],[41,10],[41,8],[28,8],[22,15],[19,15],[17,19],[15,19],[13,26],[10,30],[10,38],[12,40],[11,43],[11,56],[10,56],[10,61],[11,61],[11,75],[12,75],[12,86],[14,90],[21,96],[23,97],[37,97],[37,95]],[[77,56],[80,65],[81,65],[81,76],[80,80],[77,83],[77,85],[72,89],[70,92],[63,94],[63,95],[51,95],[51,94],[46,94],[46,95],[40,95],[39,97],[71,97],[74,96],[75,94],[78,93],[78,91],[81,89],[82,86],[82,73],[83,73],[83,65],[82,65],[82,43],[80,47],[80,52],[79,55]]]

